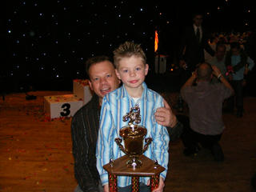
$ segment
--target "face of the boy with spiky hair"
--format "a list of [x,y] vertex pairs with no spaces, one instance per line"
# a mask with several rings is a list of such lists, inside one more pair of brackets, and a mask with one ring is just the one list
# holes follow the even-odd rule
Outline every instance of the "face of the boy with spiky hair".
[[122,58],[119,61],[116,74],[122,80],[126,88],[139,88],[144,82],[149,66],[142,62],[142,58],[132,56],[130,58]]

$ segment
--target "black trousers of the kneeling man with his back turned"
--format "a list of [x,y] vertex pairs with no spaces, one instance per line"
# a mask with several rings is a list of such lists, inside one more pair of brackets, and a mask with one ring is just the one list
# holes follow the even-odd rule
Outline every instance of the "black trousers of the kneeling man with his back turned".
[[186,149],[191,152],[196,152],[198,143],[202,147],[213,149],[213,146],[220,141],[222,134],[206,135],[199,134],[190,128],[190,126],[184,126],[184,132],[182,134],[182,142]]

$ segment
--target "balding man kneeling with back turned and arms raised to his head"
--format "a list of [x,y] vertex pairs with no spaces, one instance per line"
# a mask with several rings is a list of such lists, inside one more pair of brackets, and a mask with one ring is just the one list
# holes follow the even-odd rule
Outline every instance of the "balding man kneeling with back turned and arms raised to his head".
[[[213,74],[222,82],[211,84]],[[197,86],[192,86],[198,78]],[[198,66],[187,82],[182,86],[182,98],[190,108],[190,127],[184,130],[182,142],[186,156],[198,152],[198,143],[211,150],[216,161],[223,161],[224,154],[218,141],[222,137],[222,102],[229,98],[234,90],[223,78],[217,66],[204,62]]]

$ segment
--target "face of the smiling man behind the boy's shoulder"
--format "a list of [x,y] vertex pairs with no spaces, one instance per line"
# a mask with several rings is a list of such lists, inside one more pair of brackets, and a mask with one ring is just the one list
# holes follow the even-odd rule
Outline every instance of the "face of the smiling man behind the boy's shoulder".
[[90,66],[90,89],[98,95],[100,100],[119,86],[119,80],[114,72],[114,66],[109,61],[98,62]]

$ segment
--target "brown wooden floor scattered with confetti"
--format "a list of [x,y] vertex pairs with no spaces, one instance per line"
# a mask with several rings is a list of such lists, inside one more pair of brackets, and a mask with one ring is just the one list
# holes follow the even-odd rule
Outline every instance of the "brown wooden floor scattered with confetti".
[[[0,101],[0,191],[70,192],[77,186],[70,138],[71,119],[49,121],[43,96],[59,91],[7,94]],[[174,103],[175,94],[164,94]],[[187,111],[186,111],[187,113]],[[214,162],[207,150],[185,157],[182,142],[170,142],[170,163],[164,191],[250,191],[256,173],[256,98],[245,98],[245,114],[224,114],[224,162]]]

